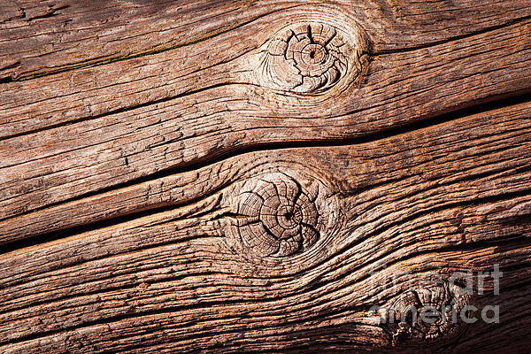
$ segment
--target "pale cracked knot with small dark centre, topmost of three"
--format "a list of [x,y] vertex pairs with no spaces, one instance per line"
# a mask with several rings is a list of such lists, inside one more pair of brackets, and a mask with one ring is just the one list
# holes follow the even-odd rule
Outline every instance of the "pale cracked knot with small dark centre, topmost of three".
[[[339,30],[320,23],[284,30],[267,46],[261,79],[274,89],[312,94],[334,86],[358,60]],[[351,65],[357,73],[358,65]]]

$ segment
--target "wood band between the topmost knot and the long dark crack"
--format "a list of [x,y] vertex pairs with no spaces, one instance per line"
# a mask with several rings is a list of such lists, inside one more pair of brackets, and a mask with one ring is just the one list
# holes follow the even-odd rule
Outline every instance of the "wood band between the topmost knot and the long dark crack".
[[[526,91],[531,82],[529,33],[527,21],[429,49],[378,56],[363,81],[340,96],[336,88],[329,96],[301,97],[254,85],[218,87],[216,76],[209,75],[215,82],[207,86],[214,87],[205,91],[5,139],[0,142],[1,218],[259,144],[374,135],[472,102]],[[497,64],[507,58],[506,65]],[[219,69],[219,75],[238,74],[235,67]],[[13,83],[19,84],[25,83]],[[132,85],[142,88],[138,82]],[[184,81],[182,89],[189,85]],[[164,96],[160,91],[152,94]],[[108,95],[127,101],[127,93],[116,87]],[[73,97],[65,99],[76,102]],[[93,99],[102,102],[104,96]],[[65,102],[50,104],[68,112]],[[100,110],[108,110],[107,104]],[[81,100],[81,106],[87,109],[90,104]],[[27,124],[38,127],[38,121],[28,119]]]

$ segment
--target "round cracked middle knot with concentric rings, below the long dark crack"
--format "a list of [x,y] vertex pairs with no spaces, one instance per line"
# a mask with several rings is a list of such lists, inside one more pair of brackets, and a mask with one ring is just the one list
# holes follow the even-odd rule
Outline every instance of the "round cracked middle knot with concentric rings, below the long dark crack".
[[314,198],[286,175],[277,173],[242,192],[238,231],[246,247],[261,256],[289,256],[319,238]]

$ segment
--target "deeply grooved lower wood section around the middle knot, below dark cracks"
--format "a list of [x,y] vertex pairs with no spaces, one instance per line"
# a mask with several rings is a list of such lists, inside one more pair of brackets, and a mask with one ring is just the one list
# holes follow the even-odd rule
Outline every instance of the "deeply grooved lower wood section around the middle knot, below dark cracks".
[[[392,277],[410,273],[421,288],[427,277],[447,281],[496,263],[500,295],[489,279],[486,294],[466,304],[523,309],[519,325],[528,326],[528,107],[358,145],[252,152],[176,175],[166,194],[139,186],[152,198],[144,205],[159,196],[177,205],[0,255],[0,350],[284,350],[330,332],[338,334],[328,338],[332,349],[344,340],[391,350],[393,333],[371,308],[389,308],[411,286],[402,278],[387,286]],[[127,208],[125,192],[102,200]],[[318,237],[301,231],[292,252],[247,228],[250,200],[267,193],[294,198],[301,214],[285,222],[300,220]],[[268,215],[258,220],[277,232]],[[491,327],[463,324],[428,349],[422,341],[406,348],[500,348],[515,312],[503,313],[496,342],[484,335]],[[483,342],[466,342],[480,333]]]

